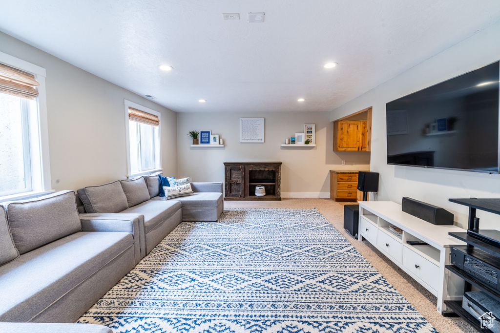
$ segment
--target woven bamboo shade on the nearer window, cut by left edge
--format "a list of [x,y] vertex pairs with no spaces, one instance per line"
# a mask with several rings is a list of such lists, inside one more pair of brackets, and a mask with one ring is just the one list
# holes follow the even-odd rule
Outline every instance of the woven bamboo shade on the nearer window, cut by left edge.
[[33,74],[0,63],[0,92],[34,99],[38,85]]

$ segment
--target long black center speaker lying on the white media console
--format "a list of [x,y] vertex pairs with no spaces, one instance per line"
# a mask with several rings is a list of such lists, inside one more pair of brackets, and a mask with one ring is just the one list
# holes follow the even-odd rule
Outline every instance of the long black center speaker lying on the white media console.
[[453,225],[453,214],[444,208],[403,197],[402,211],[436,225]]

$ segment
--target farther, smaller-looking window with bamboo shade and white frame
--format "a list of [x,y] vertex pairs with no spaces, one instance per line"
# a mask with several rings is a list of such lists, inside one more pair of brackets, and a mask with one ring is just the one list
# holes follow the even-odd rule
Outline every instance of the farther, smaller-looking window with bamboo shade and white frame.
[[127,176],[161,169],[160,113],[125,100]]

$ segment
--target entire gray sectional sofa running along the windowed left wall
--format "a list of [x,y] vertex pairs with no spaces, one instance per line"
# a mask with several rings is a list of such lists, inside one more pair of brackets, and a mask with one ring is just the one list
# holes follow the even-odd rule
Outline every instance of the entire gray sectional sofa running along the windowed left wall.
[[[175,226],[216,221],[222,183],[165,200],[157,176],[0,204],[0,331],[109,332],[74,322]],[[49,322],[51,324],[36,324]],[[57,323],[57,324],[53,324]]]

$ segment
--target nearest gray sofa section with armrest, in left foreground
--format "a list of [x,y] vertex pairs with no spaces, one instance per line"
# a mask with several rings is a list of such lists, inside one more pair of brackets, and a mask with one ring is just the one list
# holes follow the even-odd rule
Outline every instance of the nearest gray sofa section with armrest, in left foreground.
[[130,271],[138,217],[102,223],[80,220],[72,191],[0,205],[0,321],[74,322]]

